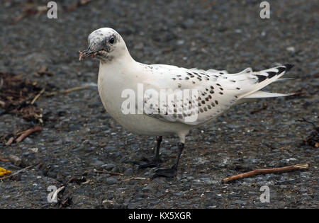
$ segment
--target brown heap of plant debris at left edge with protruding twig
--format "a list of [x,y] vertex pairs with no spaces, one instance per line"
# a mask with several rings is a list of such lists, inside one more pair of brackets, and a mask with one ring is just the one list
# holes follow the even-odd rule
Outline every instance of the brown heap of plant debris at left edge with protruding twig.
[[[47,67],[43,66],[38,74],[44,74],[46,71]],[[22,76],[22,74],[15,75],[12,73],[0,72],[0,106],[4,108],[4,112],[0,113],[0,115],[16,115],[33,124],[33,127],[27,130],[19,130],[14,134],[3,135],[1,141],[6,144],[6,146],[10,146],[14,141],[19,143],[28,137],[28,135],[43,130],[42,127],[40,127],[40,125],[44,124],[43,109],[38,108],[35,103],[41,95],[55,96],[57,94],[69,93],[90,87],[89,85],[76,86],[62,91],[52,91],[55,86],[47,84],[43,87],[36,81],[23,79]]]

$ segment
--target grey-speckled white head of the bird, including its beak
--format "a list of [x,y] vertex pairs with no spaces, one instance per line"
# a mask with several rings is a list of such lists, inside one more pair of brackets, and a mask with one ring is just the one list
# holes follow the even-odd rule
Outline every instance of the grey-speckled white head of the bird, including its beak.
[[111,28],[100,28],[89,35],[89,47],[80,52],[80,60],[82,57],[96,57],[103,62],[111,62],[114,55],[112,52],[116,50],[117,45],[123,42],[121,35]]

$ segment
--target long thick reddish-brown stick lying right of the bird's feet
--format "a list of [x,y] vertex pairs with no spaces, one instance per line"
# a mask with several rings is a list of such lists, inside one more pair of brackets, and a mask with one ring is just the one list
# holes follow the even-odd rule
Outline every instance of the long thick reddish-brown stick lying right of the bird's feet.
[[233,175],[230,176],[228,178],[223,179],[223,183],[227,183],[229,181],[234,181],[237,179],[241,179],[241,178],[247,178],[250,176],[256,176],[259,174],[267,174],[267,173],[281,173],[281,172],[288,172],[288,171],[296,171],[296,170],[301,170],[304,168],[308,168],[308,164],[296,164],[293,166],[284,166],[284,167],[279,167],[279,168],[261,168],[261,169],[257,169],[254,171],[249,171],[246,173],[240,173],[237,175]]

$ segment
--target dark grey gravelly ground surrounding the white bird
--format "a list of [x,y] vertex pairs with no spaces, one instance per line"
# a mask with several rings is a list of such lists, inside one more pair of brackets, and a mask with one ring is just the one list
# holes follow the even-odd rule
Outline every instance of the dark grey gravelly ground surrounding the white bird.
[[[303,144],[313,127],[296,121],[318,125],[317,1],[269,1],[269,19],[259,17],[261,1],[253,0],[96,0],[67,11],[74,2],[58,2],[57,19],[43,13],[13,23],[26,1],[1,1],[0,72],[61,90],[96,83],[99,62],[79,62],[78,51],[92,30],[112,27],[139,62],[228,72],[295,64],[286,75],[295,79],[267,89],[301,93],[237,105],[214,125],[194,130],[186,137],[177,177],[153,181],[123,181],[152,176],[155,168],[138,170],[127,161],[152,156],[155,139],[118,125],[105,112],[96,87],[40,96],[43,131],[9,147],[0,143],[0,157],[22,159],[20,166],[0,161],[1,167],[14,173],[35,165],[0,181],[1,208],[318,208],[318,148]],[[54,75],[35,76],[44,65]],[[258,110],[264,103],[267,108]],[[32,127],[14,115],[0,118],[0,135]],[[174,161],[176,144],[177,138],[164,138],[162,166]],[[303,163],[309,168],[221,183],[255,168]],[[77,179],[67,183],[72,177]],[[65,185],[58,203],[47,202],[50,185]],[[270,202],[259,200],[262,185],[269,186]]]

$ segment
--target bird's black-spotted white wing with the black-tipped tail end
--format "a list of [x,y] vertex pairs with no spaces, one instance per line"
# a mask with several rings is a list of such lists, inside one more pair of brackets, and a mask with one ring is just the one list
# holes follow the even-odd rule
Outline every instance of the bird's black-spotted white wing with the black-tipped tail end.
[[209,69],[185,69],[172,65],[147,65],[143,113],[167,122],[199,125],[213,120],[245,98],[267,98],[285,94],[259,91],[279,79],[292,65],[261,72],[251,68],[237,74]]

